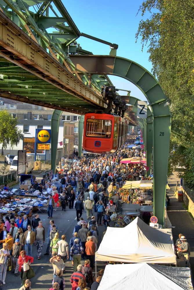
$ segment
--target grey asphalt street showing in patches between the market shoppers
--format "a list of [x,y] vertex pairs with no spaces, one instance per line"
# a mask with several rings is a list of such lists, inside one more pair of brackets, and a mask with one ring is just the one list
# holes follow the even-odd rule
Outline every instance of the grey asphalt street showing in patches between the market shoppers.
[[[33,174],[37,178],[42,178],[43,173],[38,173],[33,172]],[[13,188],[18,188],[19,185],[14,185],[12,186]],[[53,211],[52,219],[54,220],[55,224],[58,226],[59,230],[59,236],[65,234],[66,235],[66,241],[70,242],[70,239],[72,238],[72,233],[74,230],[74,227],[77,225],[77,218],[76,218],[76,211],[74,209],[69,209],[68,206],[66,206],[66,211],[62,211],[62,208],[59,207],[57,211]],[[30,217],[30,220],[35,217],[35,213],[32,214]],[[39,290],[39,289],[49,289],[52,286],[52,280],[53,280],[53,268],[52,264],[49,262],[50,260],[50,255],[44,255],[47,247],[47,241],[48,241],[48,226],[49,226],[49,221],[51,219],[47,218],[47,211],[44,211],[43,213],[39,213],[39,218],[43,222],[43,226],[45,227],[46,231],[46,240],[45,243],[43,244],[43,249],[42,249],[42,255],[41,255],[41,260],[37,260],[37,251],[36,251],[36,246],[32,246],[32,256],[34,257],[34,262],[32,263],[32,267],[35,271],[35,277],[31,279],[32,281],[32,290]],[[86,222],[87,220],[86,217],[86,212],[83,211],[82,217]],[[99,226],[99,242],[98,246],[101,242],[101,235],[104,231],[104,226]],[[81,260],[81,264],[84,265],[85,260]],[[98,262],[97,264],[97,271],[99,269],[104,268],[104,263]],[[94,269],[95,271],[95,269]],[[66,273],[64,274],[64,279],[65,279],[65,284],[66,284],[66,289],[70,290],[71,289],[71,284],[70,284],[70,276],[73,273],[73,267],[71,266],[71,261],[68,260],[66,261]],[[20,276],[16,277],[14,276],[11,271],[7,271],[6,275],[6,284],[3,285],[4,290],[17,290],[21,287],[21,278]]]

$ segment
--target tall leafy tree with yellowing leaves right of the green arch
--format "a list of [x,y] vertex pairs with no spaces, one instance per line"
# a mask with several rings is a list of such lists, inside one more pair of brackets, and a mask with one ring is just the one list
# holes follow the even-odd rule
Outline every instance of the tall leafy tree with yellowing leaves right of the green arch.
[[194,0],[146,0],[136,39],[148,45],[153,74],[170,100],[169,173],[179,165],[194,188]]

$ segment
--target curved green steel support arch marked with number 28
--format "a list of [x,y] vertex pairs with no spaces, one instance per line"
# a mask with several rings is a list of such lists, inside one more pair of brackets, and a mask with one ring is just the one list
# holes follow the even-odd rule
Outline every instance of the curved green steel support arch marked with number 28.
[[[116,75],[135,84],[148,100],[153,116],[153,198],[154,215],[163,224],[168,155],[171,133],[171,113],[166,95],[159,82],[144,67],[122,57],[75,55],[71,60],[84,73]],[[150,131],[151,132],[151,131]],[[149,138],[149,136],[147,136]]]

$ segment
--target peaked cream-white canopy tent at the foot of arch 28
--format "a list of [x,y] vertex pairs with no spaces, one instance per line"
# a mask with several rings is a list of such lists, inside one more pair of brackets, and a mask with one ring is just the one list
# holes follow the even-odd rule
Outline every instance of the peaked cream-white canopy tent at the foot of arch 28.
[[154,229],[140,218],[124,228],[108,227],[96,261],[176,264],[171,229]]

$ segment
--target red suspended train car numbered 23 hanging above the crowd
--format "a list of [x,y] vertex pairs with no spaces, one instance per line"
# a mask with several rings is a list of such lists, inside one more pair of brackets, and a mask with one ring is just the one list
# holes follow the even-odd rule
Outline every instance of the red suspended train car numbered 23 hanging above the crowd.
[[91,153],[114,153],[127,139],[128,121],[110,114],[88,113],[84,119],[83,148]]

